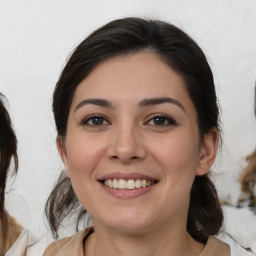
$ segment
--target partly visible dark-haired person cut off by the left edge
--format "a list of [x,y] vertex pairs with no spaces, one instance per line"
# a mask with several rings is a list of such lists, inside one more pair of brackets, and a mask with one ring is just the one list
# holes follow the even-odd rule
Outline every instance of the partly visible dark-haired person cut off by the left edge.
[[5,187],[10,162],[14,160],[15,175],[18,170],[18,156],[17,139],[2,99],[4,96],[0,93],[0,256],[25,256],[31,255],[27,247],[34,243],[34,238],[5,209]]

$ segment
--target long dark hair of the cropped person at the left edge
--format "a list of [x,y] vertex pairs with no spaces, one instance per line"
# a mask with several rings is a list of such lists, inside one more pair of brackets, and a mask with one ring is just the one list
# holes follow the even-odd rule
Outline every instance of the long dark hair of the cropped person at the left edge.
[[[14,170],[18,170],[17,139],[12,128],[11,119],[3,103],[4,96],[0,93],[0,222],[2,238],[7,239],[9,215],[4,208],[5,187],[11,159],[14,159]],[[4,243],[3,243],[4,244]]]

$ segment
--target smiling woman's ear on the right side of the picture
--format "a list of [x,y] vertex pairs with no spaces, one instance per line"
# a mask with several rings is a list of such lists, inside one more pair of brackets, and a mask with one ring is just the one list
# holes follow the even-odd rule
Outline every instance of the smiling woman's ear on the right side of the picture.
[[216,128],[212,128],[204,135],[196,175],[204,175],[208,173],[209,169],[212,167],[216,158],[217,143],[218,131]]

